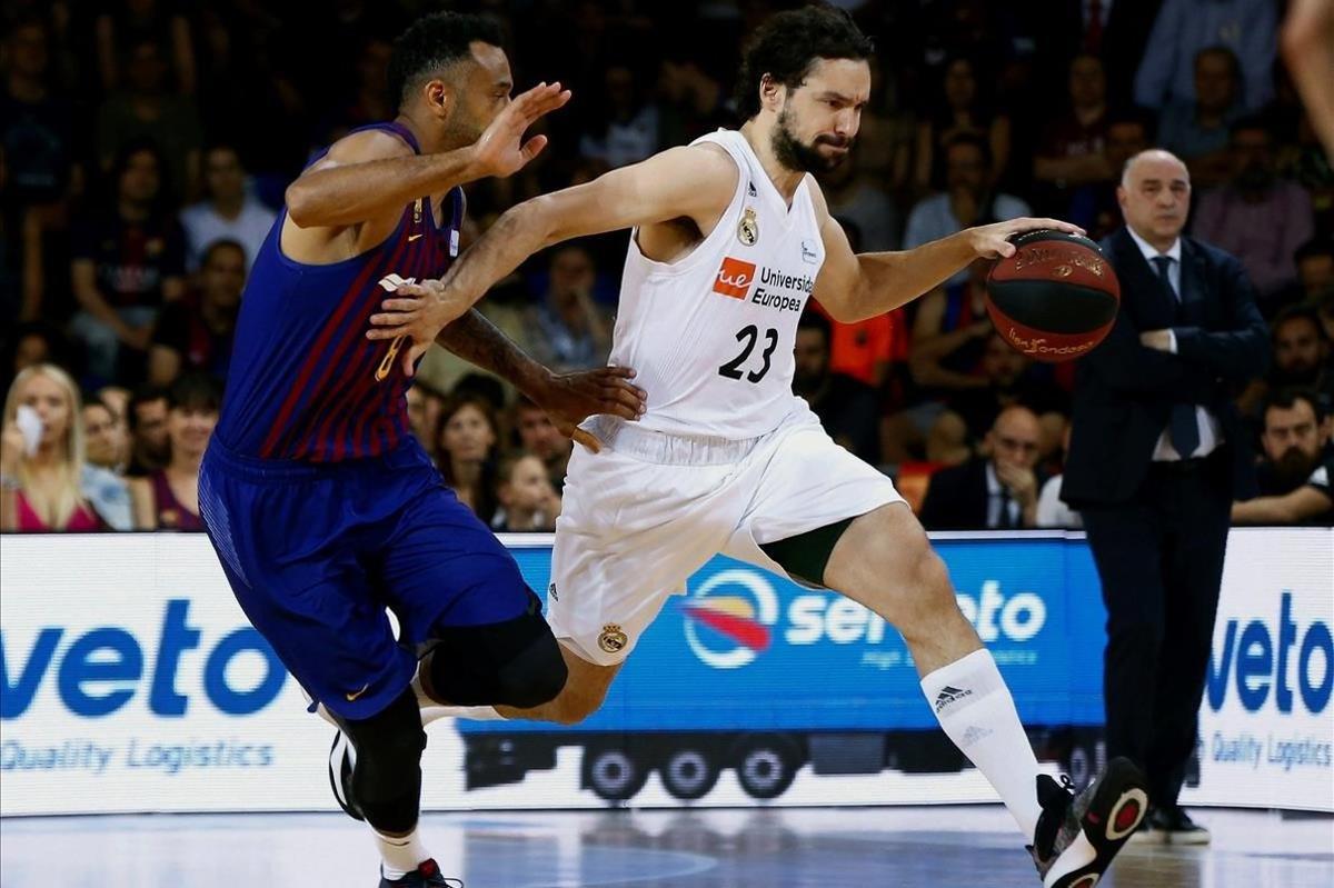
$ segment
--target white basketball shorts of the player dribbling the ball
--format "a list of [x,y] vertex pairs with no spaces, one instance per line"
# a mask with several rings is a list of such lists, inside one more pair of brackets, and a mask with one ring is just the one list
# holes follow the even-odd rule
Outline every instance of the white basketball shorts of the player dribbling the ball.
[[834,443],[804,403],[756,439],[684,437],[596,417],[576,447],[556,521],[548,620],[600,665],[634,649],[668,595],[722,552],[783,575],[759,548],[902,503],[894,483]]

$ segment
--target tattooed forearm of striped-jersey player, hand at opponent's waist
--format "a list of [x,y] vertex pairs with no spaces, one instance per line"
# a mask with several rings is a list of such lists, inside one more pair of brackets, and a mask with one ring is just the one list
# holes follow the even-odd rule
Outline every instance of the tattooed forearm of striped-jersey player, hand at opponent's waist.
[[631,384],[635,372],[627,367],[600,367],[578,373],[552,373],[523,353],[479,311],[440,331],[436,344],[459,357],[508,380],[544,409],[567,437],[598,452],[598,441],[576,428],[588,416],[610,413],[636,420],[644,412],[644,392]]

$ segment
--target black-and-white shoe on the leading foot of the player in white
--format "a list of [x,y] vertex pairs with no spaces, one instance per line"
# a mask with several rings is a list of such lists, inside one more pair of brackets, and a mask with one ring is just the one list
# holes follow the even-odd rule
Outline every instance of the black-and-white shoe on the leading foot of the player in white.
[[1129,759],[1113,759],[1078,795],[1062,780],[1038,776],[1042,816],[1029,851],[1043,888],[1093,888],[1145,819],[1145,776]]

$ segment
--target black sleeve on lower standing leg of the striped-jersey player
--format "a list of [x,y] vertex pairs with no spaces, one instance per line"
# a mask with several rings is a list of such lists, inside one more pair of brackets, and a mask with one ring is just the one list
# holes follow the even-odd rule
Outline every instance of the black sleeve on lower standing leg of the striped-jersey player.
[[416,696],[406,689],[370,719],[343,721],[356,748],[352,796],[367,823],[380,832],[408,832],[422,805],[422,751],[426,732]]

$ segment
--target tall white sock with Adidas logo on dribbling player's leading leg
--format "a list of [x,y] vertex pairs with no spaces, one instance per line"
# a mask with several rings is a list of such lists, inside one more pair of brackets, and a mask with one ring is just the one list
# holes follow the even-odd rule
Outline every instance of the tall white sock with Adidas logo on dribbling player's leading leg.
[[944,733],[991,783],[1031,844],[1042,815],[1038,757],[991,652],[974,651],[940,667],[922,679],[922,691]]

